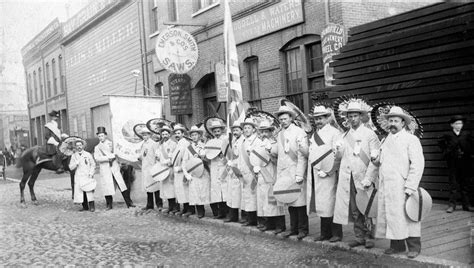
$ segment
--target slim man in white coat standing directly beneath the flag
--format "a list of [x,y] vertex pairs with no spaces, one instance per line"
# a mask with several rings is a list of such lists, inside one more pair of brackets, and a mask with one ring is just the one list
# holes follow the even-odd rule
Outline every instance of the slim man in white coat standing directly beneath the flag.
[[[242,127],[239,122],[235,122],[231,126],[232,130],[232,149],[227,150],[227,206],[229,207],[229,213],[227,219],[224,222],[237,222],[239,221],[239,208],[241,205],[242,187],[240,181],[242,180],[242,174],[238,169],[238,157],[240,146],[242,145]],[[230,145],[229,145],[230,146]]]

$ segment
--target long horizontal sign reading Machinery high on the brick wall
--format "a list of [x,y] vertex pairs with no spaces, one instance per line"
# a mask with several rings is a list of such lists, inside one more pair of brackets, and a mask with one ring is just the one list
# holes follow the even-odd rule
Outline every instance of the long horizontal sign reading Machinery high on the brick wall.
[[302,0],[282,0],[233,21],[237,44],[304,22]]

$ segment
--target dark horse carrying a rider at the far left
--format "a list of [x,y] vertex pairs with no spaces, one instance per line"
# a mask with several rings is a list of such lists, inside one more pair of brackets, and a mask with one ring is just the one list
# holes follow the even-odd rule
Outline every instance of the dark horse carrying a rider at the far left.
[[[35,191],[33,188],[35,186],[35,182],[38,178],[39,173],[43,169],[53,171],[57,171],[59,169],[59,166],[54,163],[54,159],[52,159],[51,161],[36,164],[36,159],[38,158],[38,150],[40,149],[41,146],[34,146],[32,148],[29,148],[24,151],[21,157],[18,159],[17,167],[23,168],[23,176],[20,181],[20,204],[22,205],[22,207],[26,207],[24,195],[26,183],[28,182],[28,187],[30,188],[31,201],[34,205],[38,205],[39,203],[36,199]],[[57,150],[57,155],[55,157],[59,157],[64,167],[64,170],[69,171],[69,174],[71,176],[72,197],[74,198],[74,172],[69,169],[69,161],[71,160],[71,157],[66,156],[59,150]]]

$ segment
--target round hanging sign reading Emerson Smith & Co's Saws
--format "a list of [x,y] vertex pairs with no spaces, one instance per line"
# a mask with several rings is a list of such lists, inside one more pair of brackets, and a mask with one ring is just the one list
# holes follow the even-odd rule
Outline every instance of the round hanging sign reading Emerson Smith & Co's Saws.
[[179,28],[166,29],[156,40],[156,56],[158,62],[166,70],[185,74],[196,65],[198,47],[194,37]]

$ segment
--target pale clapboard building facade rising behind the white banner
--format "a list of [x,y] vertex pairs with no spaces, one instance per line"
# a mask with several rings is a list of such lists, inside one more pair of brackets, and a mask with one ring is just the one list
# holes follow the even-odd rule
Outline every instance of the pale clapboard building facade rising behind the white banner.
[[140,4],[92,1],[64,23],[71,135],[91,138],[98,126],[110,129],[107,95],[144,94]]

